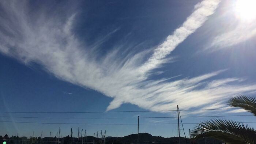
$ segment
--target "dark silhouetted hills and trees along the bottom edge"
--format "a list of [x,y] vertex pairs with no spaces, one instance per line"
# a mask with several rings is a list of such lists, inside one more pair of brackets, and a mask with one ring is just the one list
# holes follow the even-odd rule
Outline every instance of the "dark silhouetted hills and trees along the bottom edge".
[[[124,137],[106,137],[105,144],[137,144],[137,134],[131,134]],[[178,137],[170,137],[165,138],[161,136],[152,136],[148,133],[139,133],[139,144],[178,144]],[[59,144],[78,144],[78,139],[75,137],[63,137],[58,139],[57,137],[34,137],[34,138],[26,138],[26,137],[0,137],[1,144],[3,141],[6,141],[7,144],[57,144],[59,140]],[[82,143],[83,141],[83,143]],[[188,138],[181,137],[181,144],[222,144],[221,141],[215,140],[212,138],[201,139],[195,141],[190,141]],[[83,138],[79,138],[79,144],[104,144],[104,138],[96,138],[93,136],[87,136]]]

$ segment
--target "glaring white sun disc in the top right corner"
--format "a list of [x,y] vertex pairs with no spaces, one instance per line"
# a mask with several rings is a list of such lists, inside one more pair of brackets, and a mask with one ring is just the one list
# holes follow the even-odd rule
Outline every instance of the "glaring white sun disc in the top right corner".
[[237,0],[236,12],[239,18],[253,20],[256,18],[256,0]]

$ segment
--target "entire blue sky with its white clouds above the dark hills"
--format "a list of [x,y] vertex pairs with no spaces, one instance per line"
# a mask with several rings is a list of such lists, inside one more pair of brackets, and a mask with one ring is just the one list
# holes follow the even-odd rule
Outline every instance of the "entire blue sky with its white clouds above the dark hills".
[[[256,92],[256,24],[241,0],[1,1],[1,111],[139,111],[228,108]],[[239,3],[239,7],[238,7]],[[253,11],[249,11],[253,14]],[[244,14],[245,13],[245,14]],[[177,113],[1,113],[25,117],[166,117]],[[237,115],[238,110],[181,111]],[[253,121],[253,117],[232,117]],[[1,121],[136,123],[136,119],[0,118]],[[185,118],[196,123],[208,118]],[[142,119],[141,123],[175,123]],[[255,124],[251,124],[252,126]],[[136,125],[1,122],[0,135],[39,136],[70,128],[88,135],[136,133]],[[195,125],[185,125],[185,130]],[[140,132],[177,136],[177,125]]]

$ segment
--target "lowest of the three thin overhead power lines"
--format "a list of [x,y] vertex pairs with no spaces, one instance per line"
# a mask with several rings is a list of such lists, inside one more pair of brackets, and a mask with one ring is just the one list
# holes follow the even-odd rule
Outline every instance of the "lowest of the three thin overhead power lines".
[[[99,123],[99,124],[83,124],[83,123],[48,123],[48,122],[21,122],[21,121],[0,121],[0,122],[12,122],[12,123],[26,123],[26,124],[65,124],[65,125],[138,125],[138,124],[105,124],[105,123]],[[230,122],[225,122],[230,123]],[[253,122],[235,122],[235,123],[256,123],[256,121]],[[212,124],[212,123],[183,123],[183,124]],[[140,124],[140,125],[177,125],[177,123],[166,123],[166,124]]]

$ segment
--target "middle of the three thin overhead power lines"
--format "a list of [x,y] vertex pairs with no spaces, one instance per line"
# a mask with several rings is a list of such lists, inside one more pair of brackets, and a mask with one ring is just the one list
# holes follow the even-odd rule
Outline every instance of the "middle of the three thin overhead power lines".
[[[254,115],[207,115],[207,116],[187,116],[181,118],[193,117],[245,117]],[[52,119],[136,119],[136,117],[13,117],[13,116],[0,116],[4,118],[52,118]],[[177,118],[177,117],[140,117],[140,118]]]

